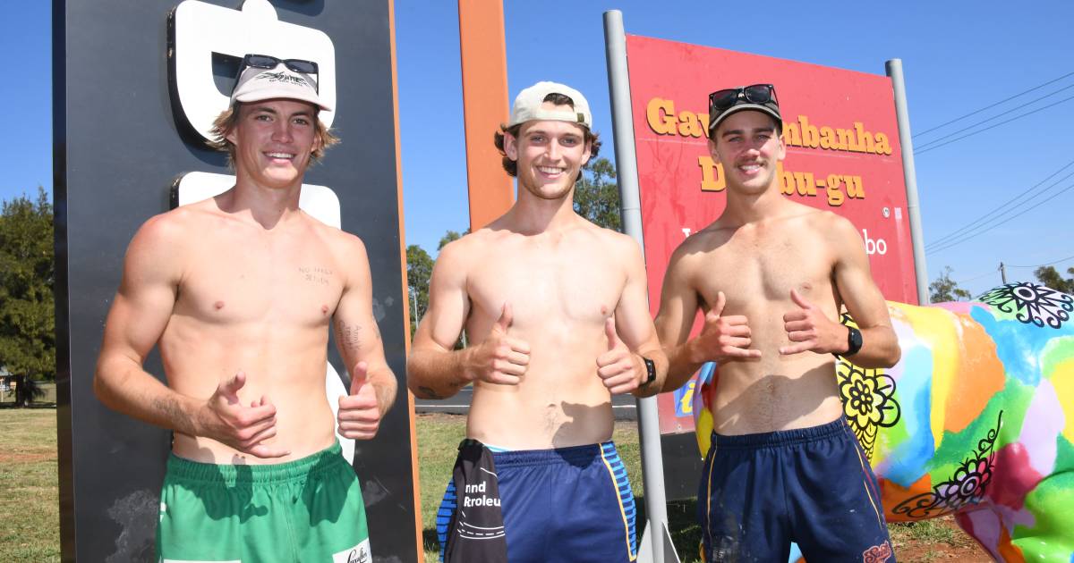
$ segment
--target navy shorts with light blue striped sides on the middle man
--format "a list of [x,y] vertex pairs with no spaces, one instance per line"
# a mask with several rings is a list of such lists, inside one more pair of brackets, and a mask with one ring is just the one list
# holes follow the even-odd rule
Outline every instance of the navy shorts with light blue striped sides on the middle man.
[[[613,443],[493,451],[493,458],[508,561],[637,559],[634,493]],[[449,483],[436,518],[441,546],[455,504],[454,484]]]

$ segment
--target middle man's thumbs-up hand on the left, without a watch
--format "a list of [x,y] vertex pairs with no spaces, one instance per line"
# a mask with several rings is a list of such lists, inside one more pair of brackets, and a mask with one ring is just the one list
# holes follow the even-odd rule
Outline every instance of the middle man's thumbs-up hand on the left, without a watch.
[[518,385],[522,381],[529,366],[529,343],[507,334],[513,321],[511,306],[504,303],[489,336],[469,349],[473,352],[466,356],[464,373],[470,381],[498,385]]

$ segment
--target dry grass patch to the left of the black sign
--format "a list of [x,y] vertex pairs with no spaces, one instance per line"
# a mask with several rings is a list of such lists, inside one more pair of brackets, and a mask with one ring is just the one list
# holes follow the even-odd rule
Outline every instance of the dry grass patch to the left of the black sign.
[[59,561],[56,409],[0,409],[0,561]]

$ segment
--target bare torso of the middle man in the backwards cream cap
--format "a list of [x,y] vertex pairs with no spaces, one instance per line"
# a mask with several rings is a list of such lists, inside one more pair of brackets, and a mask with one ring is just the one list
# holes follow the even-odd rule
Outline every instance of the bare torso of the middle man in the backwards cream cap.
[[596,358],[608,350],[605,322],[626,284],[633,241],[580,220],[532,236],[494,224],[456,243],[469,266],[469,344],[485,338],[508,302],[509,335],[532,351],[519,385],[475,383],[467,434],[512,449],[610,440],[611,396]]

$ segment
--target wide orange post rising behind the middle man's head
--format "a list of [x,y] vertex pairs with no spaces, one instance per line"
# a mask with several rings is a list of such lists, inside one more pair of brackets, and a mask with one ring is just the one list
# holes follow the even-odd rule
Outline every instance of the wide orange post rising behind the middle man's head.
[[514,203],[514,184],[492,144],[493,134],[507,122],[509,105],[502,0],[459,0],[459,46],[470,231],[477,231]]

